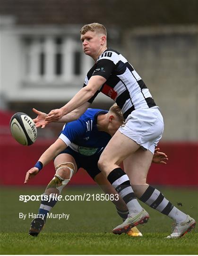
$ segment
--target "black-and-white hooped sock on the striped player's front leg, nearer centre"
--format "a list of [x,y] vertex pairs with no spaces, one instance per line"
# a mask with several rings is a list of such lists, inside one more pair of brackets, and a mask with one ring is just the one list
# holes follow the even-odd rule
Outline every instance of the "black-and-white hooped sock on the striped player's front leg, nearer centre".
[[112,170],[107,179],[126,203],[129,213],[133,214],[142,211],[142,207],[131,188],[129,177],[121,168]]

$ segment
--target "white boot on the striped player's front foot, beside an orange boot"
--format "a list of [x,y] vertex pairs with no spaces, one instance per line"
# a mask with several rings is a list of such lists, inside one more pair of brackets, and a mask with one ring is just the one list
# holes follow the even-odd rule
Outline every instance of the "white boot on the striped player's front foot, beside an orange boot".
[[128,233],[129,230],[138,224],[146,223],[149,219],[149,214],[142,208],[138,214],[129,214],[125,221],[112,230],[113,234]]

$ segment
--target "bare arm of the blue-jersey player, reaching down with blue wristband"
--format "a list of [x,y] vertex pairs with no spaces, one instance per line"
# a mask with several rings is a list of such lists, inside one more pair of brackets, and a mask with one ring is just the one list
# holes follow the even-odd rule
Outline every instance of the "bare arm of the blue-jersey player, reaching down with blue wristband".
[[[58,138],[44,153],[41,155],[37,163],[41,163],[42,167],[47,165],[54,157],[56,157],[61,151],[67,148],[67,145],[63,140]],[[36,174],[39,173],[38,167],[33,167],[26,173],[25,182],[27,183]]]

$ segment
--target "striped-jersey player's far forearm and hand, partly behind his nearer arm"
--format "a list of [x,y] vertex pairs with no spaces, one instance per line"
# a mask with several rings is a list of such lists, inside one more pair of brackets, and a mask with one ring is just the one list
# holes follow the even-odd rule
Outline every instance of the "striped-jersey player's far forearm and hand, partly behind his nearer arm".
[[[68,123],[68,122],[77,120],[90,107],[90,105],[91,103],[85,102],[83,105],[73,110],[72,112],[68,113],[67,115],[63,116],[60,120],[56,122]],[[33,112],[37,114],[37,117],[33,119],[36,125],[36,128],[39,128],[39,127],[45,128],[45,126],[50,123],[50,121],[45,120],[45,118],[48,116],[46,113],[36,109],[33,109]]]

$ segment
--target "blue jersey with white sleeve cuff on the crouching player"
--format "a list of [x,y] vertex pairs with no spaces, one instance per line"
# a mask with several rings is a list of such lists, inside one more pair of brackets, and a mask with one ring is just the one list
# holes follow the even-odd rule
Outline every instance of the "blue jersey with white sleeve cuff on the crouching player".
[[64,125],[59,138],[81,155],[100,153],[111,139],[110,134],[97,128],[98,115],[106,113],[108,111],[87,109],[79,119]]

